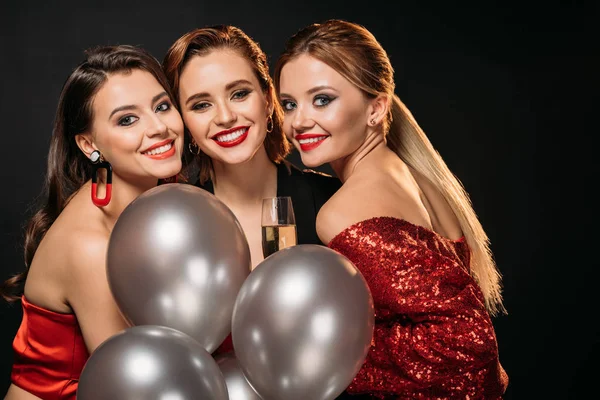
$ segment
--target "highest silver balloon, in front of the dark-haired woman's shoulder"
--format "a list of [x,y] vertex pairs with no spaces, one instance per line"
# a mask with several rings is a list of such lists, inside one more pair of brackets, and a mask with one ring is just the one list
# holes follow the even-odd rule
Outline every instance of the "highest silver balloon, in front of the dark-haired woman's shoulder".
[[231,332],[250,249],[225,204],[203,189],[171,183],[125,208],[110,235],[106,270],[132,325],[176,329],[212,353]]

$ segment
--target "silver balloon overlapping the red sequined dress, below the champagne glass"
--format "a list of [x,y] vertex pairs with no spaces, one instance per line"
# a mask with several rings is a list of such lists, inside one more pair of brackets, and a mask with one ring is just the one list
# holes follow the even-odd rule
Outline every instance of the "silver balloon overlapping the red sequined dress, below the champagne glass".
[[264,400],[328,400],[344,391],[366,358],[373,298],[346,257],[298,245],[252,271],[232,319],[236,357]]

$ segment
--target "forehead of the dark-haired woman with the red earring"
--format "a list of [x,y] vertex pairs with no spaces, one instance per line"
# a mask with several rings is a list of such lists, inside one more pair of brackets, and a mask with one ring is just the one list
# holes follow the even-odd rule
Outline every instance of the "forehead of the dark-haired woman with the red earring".
[[96,96],[92,107],[96,115],[110,113],[123,105],[149,106],[152,98],[164,88],[149,72],[134,69],[110,74]]

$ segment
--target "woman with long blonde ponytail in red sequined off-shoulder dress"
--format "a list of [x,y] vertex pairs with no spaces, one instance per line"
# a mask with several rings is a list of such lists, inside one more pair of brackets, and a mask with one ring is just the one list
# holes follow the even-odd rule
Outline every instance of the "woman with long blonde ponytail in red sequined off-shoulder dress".
[[490,315],[500,275],[467,193],[394,94],[393,68],[364,27],[294,35],[275,67],[284,131],[308,167],[342,188],[317,216],[324,243],[369,283],[374,340],[348,394],[498,399],[508,377]]

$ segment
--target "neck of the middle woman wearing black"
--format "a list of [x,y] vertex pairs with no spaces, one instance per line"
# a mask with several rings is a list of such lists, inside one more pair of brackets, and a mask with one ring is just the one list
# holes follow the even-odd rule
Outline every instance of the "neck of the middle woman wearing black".
[[248,161],[225,164],[213,161],[215,196],[227,205],[262,203],[277,194],[277,167],[264,146]]

